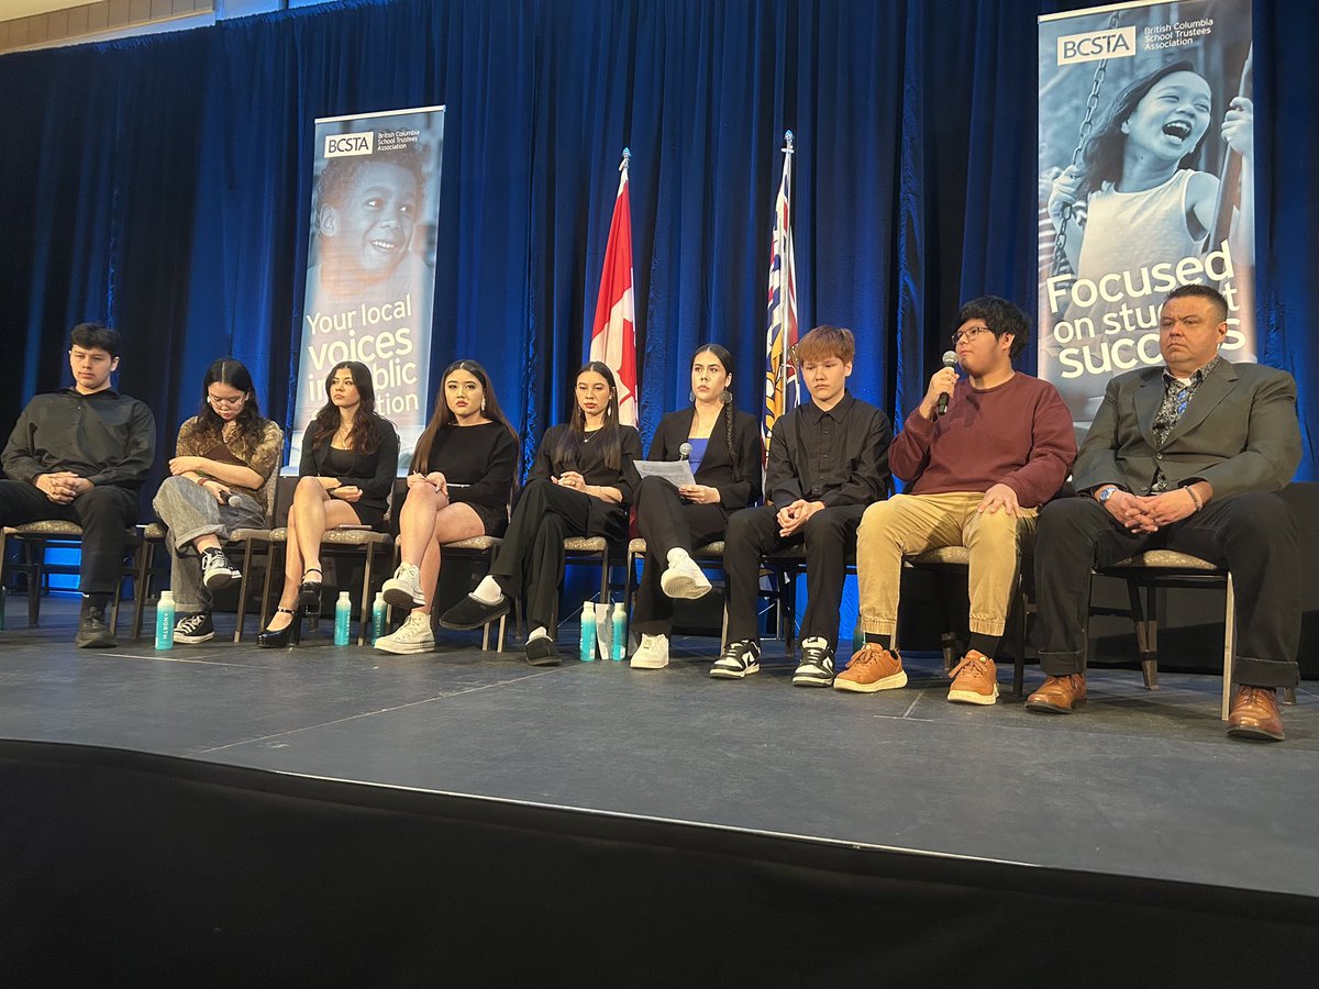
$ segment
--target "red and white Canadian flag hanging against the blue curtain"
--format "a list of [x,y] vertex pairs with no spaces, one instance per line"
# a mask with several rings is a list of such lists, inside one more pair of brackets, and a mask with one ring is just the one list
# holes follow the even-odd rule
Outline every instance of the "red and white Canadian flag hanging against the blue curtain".
[[637,425],[637,328],[632,305],[632,208],[628,206],[630,157],[632,152],[624,148],[591,327],[591,360],[608,364],[613,372],[619,385],[619,422],[624,426]]

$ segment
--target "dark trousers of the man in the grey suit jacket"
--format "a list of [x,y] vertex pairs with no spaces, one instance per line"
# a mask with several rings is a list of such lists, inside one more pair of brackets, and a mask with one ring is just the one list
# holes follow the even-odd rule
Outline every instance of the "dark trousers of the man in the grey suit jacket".
[[1035,645],[1050,676],[1086,669],[1091,568],[1145,550],[1188,553],[1232,571],[1237,601],[1237,683],[1294,687],[1299,679],[1301,556],[1295,520],[1273,493],[1215,498],[1149,535],[1124,529],[1093,498],[1063,498],[1035,533]]

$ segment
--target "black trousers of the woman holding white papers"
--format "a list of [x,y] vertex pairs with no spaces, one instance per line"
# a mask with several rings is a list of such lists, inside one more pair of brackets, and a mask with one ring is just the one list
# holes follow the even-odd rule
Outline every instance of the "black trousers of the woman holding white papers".
[[669,550],[691,553],[724,534],[723,505],[691,505],[661,477],[645,477],[637,489],[637,534],[646,541],[646,564],[637,588],[632,628],[644,636],[667,636],[673,629],[673,599],[660,589]]

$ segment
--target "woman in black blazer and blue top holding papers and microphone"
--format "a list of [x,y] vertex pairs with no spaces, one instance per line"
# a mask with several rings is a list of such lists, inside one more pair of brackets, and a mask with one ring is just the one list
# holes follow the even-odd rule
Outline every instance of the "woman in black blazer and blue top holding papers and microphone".
[[637,488],[637,531],[646,563],[632,628],[641,645],[632,667],[669,665],[674,597],[700,597],[710,580],[691,559],[696,546],[721,539],[728,516],[761,497],[760,425],[732,406],[732,355],[707,343],[691,359],[690,409],[669,413],[650,440],[648,460],[687,460],[695,484],[645,477]]

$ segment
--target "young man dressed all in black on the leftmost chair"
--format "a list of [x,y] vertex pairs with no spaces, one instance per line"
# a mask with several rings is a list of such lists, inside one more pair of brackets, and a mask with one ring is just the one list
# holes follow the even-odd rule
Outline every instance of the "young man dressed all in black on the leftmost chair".
[[[0,462],[0,525],[46,518],[83,529],[79,649],[115,645],[106,608],[119,587],[125,534],[137,522],[137,489],[156,456],[156,419],[116,392],[119,334],[100,323],[74,327],[73,388],[38,394],[22,410]],[[30,592],[29,592],[30,593]]]

